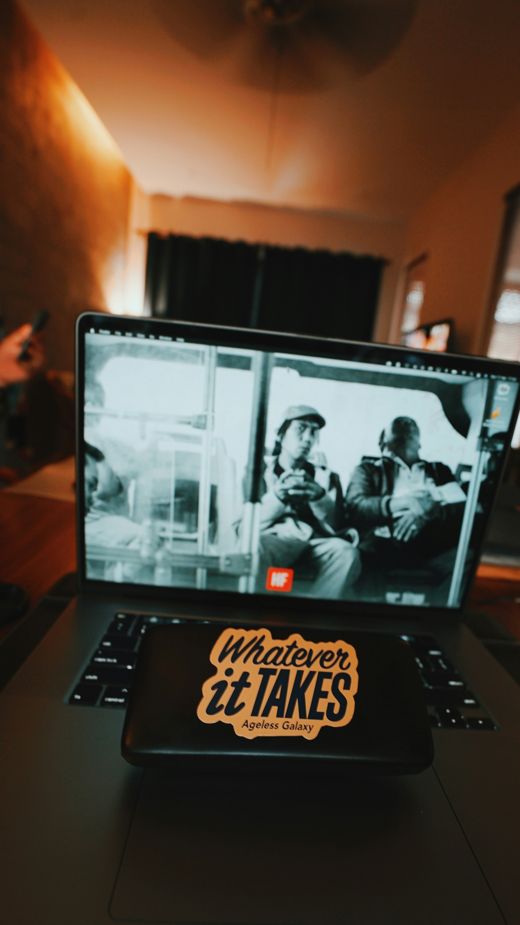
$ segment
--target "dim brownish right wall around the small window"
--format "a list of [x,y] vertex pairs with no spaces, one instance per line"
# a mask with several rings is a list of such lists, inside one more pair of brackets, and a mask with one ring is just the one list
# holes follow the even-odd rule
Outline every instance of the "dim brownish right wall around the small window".
[[[405,261],[429,254],[421,321],[452,316],[456,348],[485,352],[504,194],[520,182],[520,106],[429,198],[410,223]],[[399,339],[402,293],[390,336]]]

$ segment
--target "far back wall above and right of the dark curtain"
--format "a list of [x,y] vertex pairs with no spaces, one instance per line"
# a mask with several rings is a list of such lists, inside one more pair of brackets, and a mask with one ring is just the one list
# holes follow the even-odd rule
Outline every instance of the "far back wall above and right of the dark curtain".
[[342,213],[155,195],[150,197],[149,228],[162,234],[208,235],[384,257],[388,263],[373,336],[379,341],[388,339],[403,260],[404,224]]

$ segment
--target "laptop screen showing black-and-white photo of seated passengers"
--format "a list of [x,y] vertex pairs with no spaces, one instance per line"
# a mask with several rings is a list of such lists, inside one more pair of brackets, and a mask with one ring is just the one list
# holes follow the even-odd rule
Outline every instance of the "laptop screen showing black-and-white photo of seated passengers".
[[89,580],[458,608],[513,364],[83,316]]

